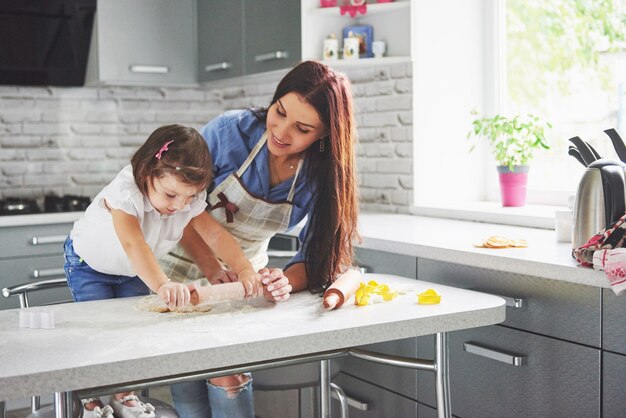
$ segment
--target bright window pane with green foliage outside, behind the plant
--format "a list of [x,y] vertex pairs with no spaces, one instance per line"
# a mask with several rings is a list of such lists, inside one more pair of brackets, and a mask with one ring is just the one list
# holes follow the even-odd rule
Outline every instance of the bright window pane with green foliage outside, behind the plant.
[[617,159],[603,130],[624,131],[626,1],[506,0],[500,84],[504,114],[550,121],[551,149],[531,162],[529,202],[564,205],[584,167],[568,155],[580,136]]

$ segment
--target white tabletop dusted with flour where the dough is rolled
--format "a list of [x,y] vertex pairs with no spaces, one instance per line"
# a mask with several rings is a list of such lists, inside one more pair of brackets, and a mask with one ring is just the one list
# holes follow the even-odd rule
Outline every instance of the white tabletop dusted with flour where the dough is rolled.
[[[0,311],[0,399],[91,389],[500,323],[492,295],[381,274],[411,291],[357,307],[324,311],[308,292],[272,304],[224,303],[205,314],[138,311],[138,298],[50,306],[56,328],[20,328],[19,309]],[[418,305],[416,293],[442,295]],[[37,309],[37,308],[31,308]]]

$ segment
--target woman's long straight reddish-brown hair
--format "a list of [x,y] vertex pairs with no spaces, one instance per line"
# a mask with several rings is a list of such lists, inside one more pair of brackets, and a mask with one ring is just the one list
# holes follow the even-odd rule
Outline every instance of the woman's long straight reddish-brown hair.
[[270,106],[291,92],[317,110],[326,128],[326,136],[306,150],[304,165],[314,192],[305,238],[308,288],[322,292],[352,265],[352,245],[360,239],[352,91],[344,74],[304,61],[278,83]]

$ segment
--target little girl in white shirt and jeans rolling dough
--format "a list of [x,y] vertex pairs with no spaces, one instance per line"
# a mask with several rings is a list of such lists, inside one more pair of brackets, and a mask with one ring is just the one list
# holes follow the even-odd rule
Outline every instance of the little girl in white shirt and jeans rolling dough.
[[[237,273],[246,296],[263,292],[232,236],[204,209],[212,180],[206,142],[193,128],[158,128],[74,223],[65,242],[65,273],[76,302],[147,295],[170,307],[190,301],[189,288],[172,282],[157,259],[193,229]],[[84,417],[154,417],[132,392],[111,397],[111,407],[83,400]]]

